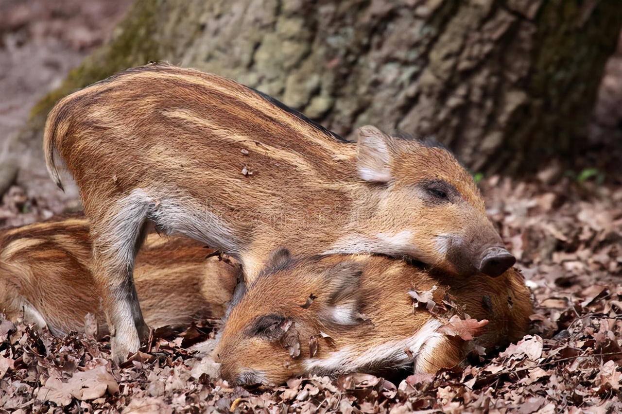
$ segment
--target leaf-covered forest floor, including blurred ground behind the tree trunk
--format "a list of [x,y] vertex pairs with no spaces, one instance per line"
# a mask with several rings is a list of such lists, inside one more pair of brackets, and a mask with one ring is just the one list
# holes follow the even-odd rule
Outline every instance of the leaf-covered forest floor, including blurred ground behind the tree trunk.
[[[0,144],[106,39],[124,7],[0,0]],[[621,108],[622,49],[606,70],[593,140],[620,142]],[[218,379],[207,326],[160,331],[151,352],[113,367],[106,343],[77,334],[53,338],[0,319],[0,413],[622,412],[622,189],[601,185],[603,173],[598,165],[583,172],[551,165],[529,183],[481,180],[488,213],[534,293],[535,313],[529,336],[465,370],[394,382],[366,374],[313,377],[245,390]],[[49,195],[32,190],[6,191],[1,226],[57,212]]]

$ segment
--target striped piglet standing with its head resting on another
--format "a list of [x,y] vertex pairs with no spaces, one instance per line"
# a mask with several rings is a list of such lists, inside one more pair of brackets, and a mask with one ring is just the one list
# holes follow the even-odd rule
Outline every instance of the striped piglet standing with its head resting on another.
[[231,80],[168,65],[123,71],[62,99],[45,126],[90,219],[113,358],[147,332],[132,267],[147,220],[241,261],[267,255],[407,255],[453,275],[514,264],[470,175],[442,147],[374,127],[349,144]]

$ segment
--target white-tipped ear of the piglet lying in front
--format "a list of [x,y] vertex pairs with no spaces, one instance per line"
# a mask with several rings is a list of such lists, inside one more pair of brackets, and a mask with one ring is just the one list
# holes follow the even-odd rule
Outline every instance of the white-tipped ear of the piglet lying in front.
[[322,319],[341,325],[361,323],[362,307],[361,277],[363,270],[356,262],[341,262],[328,269],[326,277],[327,309]]

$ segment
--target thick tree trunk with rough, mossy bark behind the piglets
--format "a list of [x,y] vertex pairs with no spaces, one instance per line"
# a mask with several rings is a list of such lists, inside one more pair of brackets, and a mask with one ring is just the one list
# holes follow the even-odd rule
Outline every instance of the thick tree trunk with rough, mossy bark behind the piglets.
[[622,8],[610,0],[137,0],[33,110],[149,60],[264,91],[343,136],[434,134],[475,171],[532,172],[582,149]]

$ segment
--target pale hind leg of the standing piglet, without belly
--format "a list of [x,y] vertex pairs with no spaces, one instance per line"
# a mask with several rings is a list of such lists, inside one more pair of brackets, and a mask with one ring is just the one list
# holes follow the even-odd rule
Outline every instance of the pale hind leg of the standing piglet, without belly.
[[128,205],[110,220],[91,221],[93,277],[110,329],[112,358],[117,363],[138,351],[149,337],[132,275],[146,233],[148,209],[140,203]]

